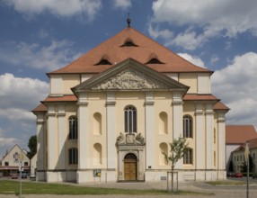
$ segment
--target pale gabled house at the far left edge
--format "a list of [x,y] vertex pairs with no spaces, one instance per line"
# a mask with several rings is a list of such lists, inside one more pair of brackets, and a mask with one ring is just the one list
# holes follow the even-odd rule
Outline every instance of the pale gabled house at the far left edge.
[[19,172],[19,160],[17,157],[22,155],[23,171],[30,173],[30,159],[27,157],[27,152],[20,148],[17,144],[5,154],[0,164],[0,172],[3,176],[9,176]]

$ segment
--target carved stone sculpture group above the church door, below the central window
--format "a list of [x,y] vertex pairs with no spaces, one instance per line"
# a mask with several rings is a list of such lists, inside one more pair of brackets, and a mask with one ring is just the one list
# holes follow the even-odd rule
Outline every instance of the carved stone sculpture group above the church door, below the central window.
[[141,133],[122,133],[116,139],[116,145],[145,145],[145,139]]

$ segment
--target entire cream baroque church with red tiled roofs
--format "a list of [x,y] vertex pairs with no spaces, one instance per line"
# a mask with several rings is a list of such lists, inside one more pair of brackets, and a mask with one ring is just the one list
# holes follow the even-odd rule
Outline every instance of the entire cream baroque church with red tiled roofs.
[[225,179],[229,109],[210,92],[212,73],[129,26],[48,73],[49,96],[32,111],[37,179],[160,181],[180,136],[190,148],[179,180]]

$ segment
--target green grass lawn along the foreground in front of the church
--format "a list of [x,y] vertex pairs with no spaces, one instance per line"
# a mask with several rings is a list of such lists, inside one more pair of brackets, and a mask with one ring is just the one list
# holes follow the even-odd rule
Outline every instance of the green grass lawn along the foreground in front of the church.
[[[0,193],[19,194],[19,181],[1,180]],[[96,188],[76,186],[73,184],[47,184],[38,182],[22,182],[22,194],[142,194],[142,195],[162,195],[168,194],[164,190],[135,190],[116,188]],[[205,194],[197,192],[180,191],[177,194]]]

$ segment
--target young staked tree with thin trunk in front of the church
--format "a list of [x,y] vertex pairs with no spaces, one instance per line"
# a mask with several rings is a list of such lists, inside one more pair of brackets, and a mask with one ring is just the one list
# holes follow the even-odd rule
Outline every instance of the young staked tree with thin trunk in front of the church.
[[186,142],[185,138],[179,137],[178,139],[173,139],[172,143],[169,143],[171,147],[171,154],[166,155],[164,152],[164,157],[167,163],[172,165],[172,189],[173,189],[173,173],[174,173],[174,166],[175,164],[184,157],[188,147],[188,143]]

